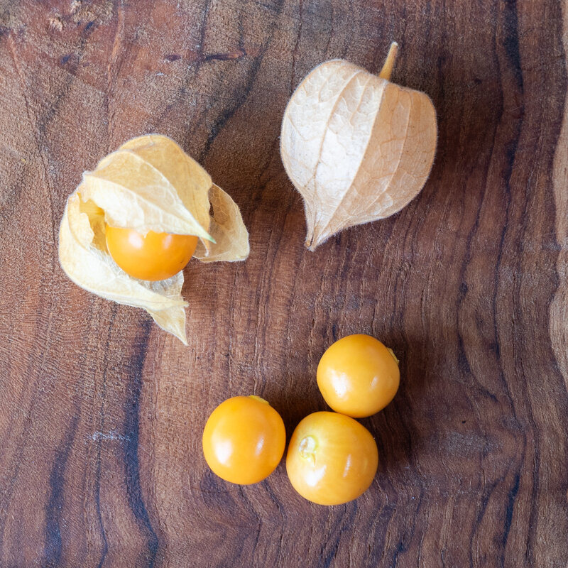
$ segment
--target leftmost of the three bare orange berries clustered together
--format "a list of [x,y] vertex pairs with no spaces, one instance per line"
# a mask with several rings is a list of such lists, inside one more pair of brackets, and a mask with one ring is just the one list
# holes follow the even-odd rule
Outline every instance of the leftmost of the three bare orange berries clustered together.
[[234,396],[213,410],[202,444],[205,461],[214,474],[233,484],[256,484],[280,463],[286,430],[266,400]]

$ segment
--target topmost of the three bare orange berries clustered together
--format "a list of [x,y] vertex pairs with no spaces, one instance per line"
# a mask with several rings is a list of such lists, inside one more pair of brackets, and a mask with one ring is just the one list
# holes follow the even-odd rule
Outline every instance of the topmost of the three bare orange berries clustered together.
[[398,361],[370,335],[339,339],[317,366],[317,386],[325,402],[336,412],[356,418],[385,408],[399,383]]

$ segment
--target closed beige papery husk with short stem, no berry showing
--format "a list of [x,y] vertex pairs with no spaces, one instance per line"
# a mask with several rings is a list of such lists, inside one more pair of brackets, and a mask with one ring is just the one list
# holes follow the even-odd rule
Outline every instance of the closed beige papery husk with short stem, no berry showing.
[[425,93],[389,81],[397,48],[378,76],[344,60],[324,62],[288,102],[280,154],[304,198],[310,250],[398,212],[430,174],[436,112]]

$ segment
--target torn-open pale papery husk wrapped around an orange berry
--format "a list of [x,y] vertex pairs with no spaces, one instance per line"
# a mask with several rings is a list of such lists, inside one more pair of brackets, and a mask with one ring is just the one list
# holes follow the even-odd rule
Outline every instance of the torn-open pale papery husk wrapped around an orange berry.
[[132,278],[107,250],[105,223],[142,234],[196,235],[200,243],[194,256],[203,262],[249,256],[249,234],[239,207],[166,136],[133,138],[83,174],[61,220],[63,270],[89,292],[143,308],[186,345],[183,273],[158,282]]

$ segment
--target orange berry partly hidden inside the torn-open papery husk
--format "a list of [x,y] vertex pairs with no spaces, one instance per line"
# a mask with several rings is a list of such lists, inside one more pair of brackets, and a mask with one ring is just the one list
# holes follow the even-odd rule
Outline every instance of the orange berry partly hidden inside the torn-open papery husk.
[[107,225],[107,248],[114,262],[133,278],[165,280],[185,268],[195,253],[197,236],[148,231]]

